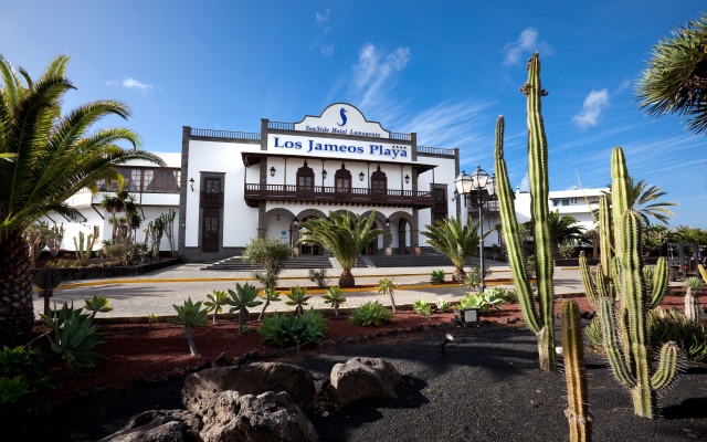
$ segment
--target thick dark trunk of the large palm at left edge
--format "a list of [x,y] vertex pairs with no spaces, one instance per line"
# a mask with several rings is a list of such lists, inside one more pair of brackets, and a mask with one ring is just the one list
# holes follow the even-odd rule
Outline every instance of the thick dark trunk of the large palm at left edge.
[[0,243],[0,346],[30,340],[33,276],[29,244],[11,232]]

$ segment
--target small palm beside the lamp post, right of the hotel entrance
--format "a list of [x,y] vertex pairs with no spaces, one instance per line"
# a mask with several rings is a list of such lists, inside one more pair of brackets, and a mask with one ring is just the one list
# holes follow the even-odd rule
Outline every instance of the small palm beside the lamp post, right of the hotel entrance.
[[464,265],[476,253],[481,243],[478,222],[473,223],[468,218],[466,224],[462,224],[462,219],[456,217],[437,220],[434,225],[425,224],[424,228],[426,231],[422,234],[428,236],[424,242],[452,261],[455,267],[452,276],[454,281],[464,281]]

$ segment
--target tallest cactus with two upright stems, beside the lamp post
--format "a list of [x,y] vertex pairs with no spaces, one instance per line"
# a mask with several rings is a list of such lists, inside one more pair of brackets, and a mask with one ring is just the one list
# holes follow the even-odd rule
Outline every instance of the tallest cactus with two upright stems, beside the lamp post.
[[518,221],[513,189],[504,159],[504,117],[496,124],[496,177],[500,221],[507,239],[508,262],[520,302],[523,317],[538,338],[540,369],[557,369],[555,354],[555,291],[552,286],[552,256],[548,231],[548,147],[540,113],[540,97],[548,93],[540,86],[540,57],[535,52],[528,61],[528,82],[520,88],[527,97],[528,110],[528,178],[535,236],[535,273],[537,297],[530,287],[528,269],[518,241]]

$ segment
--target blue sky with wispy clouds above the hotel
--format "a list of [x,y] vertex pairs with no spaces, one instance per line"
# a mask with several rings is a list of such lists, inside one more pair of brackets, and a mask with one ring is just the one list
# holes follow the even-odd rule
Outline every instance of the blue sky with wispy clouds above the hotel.
[[[181,127],[260,131],[346,102],[420,145],[460,148],[493,170],[527,169],[526,61],[540,52],[550,188],[603,187],[610,152],[679,202],[671,224],[707,229],[707,149],[674,116],[637,109],[634,85],[658,40],[700,13],[694,0],[66,1],[2,0],[0,54],[38,76],[72,56],[67,108],[114,98],[144,148],[180,151]],[[579,177],[579,178],[578,178]]]

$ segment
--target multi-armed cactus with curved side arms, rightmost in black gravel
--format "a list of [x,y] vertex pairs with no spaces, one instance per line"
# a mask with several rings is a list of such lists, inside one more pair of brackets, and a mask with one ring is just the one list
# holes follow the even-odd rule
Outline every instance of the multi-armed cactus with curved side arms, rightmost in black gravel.
[[[611,175],[611,213],[606,213],[608,207],[600,203],[600,212],[604,211],[600,213],[600,234],[613,234],[614,241],[612,244],[606,238],[602,239],[602,265],[593,282],[589,277],[587,260],[580,261],[582,281],[590,301],[595,295],[604,350],[614,375],[631,390],[635,413],[654,418],[655,393],[673,381],[677,361],[677,347],[667,343],[661,349],[658,368],[654,370],[648,339],[647,313],[657,307],[665,296],[667,261],[658,260],[648,293],[643,273],[641,218],[629,207],[629,170],[620,147],[612,152]],[[610,218],[611,223],[608,221]],[[608,225],[612,228],[608,229]],[[611,251],[615,255],[611,256]],[[610,257],[611,265],[606,266]],[[604,270],[611,272],[611,277]]]

